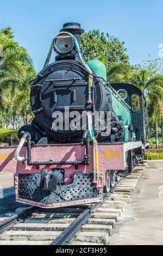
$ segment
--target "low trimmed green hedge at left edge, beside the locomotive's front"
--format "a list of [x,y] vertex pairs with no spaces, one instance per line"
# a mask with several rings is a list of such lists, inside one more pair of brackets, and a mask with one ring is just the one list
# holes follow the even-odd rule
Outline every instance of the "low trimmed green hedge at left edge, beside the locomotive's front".
[[18,142],[17,130],[13,129],[0,129],[0,141],[8,142],[9,138],[12,139],[13,142]]

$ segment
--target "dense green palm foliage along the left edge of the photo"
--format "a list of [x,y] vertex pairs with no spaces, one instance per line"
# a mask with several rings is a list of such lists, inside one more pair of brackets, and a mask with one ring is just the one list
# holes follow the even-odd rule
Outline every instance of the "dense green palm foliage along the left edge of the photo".
[[0,44],[3,46],[3,55],[0,57],[0,112],[5,124],[5,117],[10,117],[11,123],[14,115],[27,120],[30,113],[30,102],[27,99],[29,81],[36,76],[27,50],[20,47],[13,37],[10,27],[0,31]]

